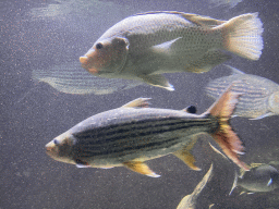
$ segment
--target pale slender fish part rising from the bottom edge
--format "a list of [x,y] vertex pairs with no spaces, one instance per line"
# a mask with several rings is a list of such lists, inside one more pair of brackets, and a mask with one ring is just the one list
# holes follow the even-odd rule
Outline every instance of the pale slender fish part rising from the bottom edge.
[[[209,170],[203,177],[203,180],[197,184],[194,192],[191,195],[185,196],[177,207],[177,209],[195,209],[196,208],[196,200],[201,192],[204,189],[206,184],[210,181],[213,176],[213,164],[210,165]],[[209,208],[213,207],[213,205],[209,206]]]

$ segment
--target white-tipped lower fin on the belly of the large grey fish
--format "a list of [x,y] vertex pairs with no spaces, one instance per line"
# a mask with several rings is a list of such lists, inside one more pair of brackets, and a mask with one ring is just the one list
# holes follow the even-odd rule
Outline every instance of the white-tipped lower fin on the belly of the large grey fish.
[[168,79],[160,74],[140,75],[138,77],[141,77],[145,83],[149,85],[166,88],[167,90],[170,90],[170,91],[174,90],[173,86],[168,82]]

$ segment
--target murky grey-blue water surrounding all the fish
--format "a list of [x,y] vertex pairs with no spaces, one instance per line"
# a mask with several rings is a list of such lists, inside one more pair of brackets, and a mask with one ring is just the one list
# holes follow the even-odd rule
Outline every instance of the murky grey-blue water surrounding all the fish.
[[[198,197],[196,208],[278,208],[279,192],[229,196],[234,180],[232,163],[216,157],[203,137],[194,156],[201,172],[173,156],[148,161],[159,175],[151,179],[125,168],[78,169],[49,158],[45,145],[82,120],[138,97],[151,107],[183,109],[196,106],[203,113],[214,100],[205,86],[229,75],[223,65],[208,73],[174,73],[167,77],[174,91],[141,85],[107,95],[71,95],[33,78],[33,71],[66,66],[78,61],[109,27],[146,11],[175,10],[219,20],[258,12],[264,25],[264,49],[258,61],[233,56],[226,62],[245,73],[279,83],[279,1],[243,0],[233,8],[201,1],[114,0],[1,0],[1,130],[0,209],[5,208],[177,208],[216,164],[214,180]],[[69,65],[70,67],[70,65]],[[234,118],[232,126],[245,144],[246,163],[275,161],[279,169],[278,115],[262,120]],[[210,140],[210,139],[209,139]]]

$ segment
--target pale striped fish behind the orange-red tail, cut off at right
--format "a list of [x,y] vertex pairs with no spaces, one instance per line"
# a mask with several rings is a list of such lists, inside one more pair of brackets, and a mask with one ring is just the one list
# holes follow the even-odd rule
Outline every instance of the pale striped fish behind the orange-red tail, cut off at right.
[[218,98],[228,86],[234,83],[232,91],[241,93],[234,116],[259,120],[279,114],[279,85],[257,75],[245,74],[240,70],[226,65],[231,75],[214,79],[205,90],[207,96]]

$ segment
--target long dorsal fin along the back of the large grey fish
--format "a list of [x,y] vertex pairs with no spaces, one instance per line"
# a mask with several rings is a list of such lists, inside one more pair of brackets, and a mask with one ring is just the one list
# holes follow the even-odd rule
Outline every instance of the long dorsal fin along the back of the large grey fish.
[[227,21],[211,19],[209,16],[203,16],[203,15],[198,15],[198,14],[177,12],[177,11],[150,11],[150,12],[137,13],[135,15],[159,14],[159,13],[178,14],[178,15],[182,16],[183,19],[186,19],[187,21],[191,21],[192,23],[194,23],[196,25],[204,26],[204,27],[215,27],[217,25],[221,25],[227,22]]

